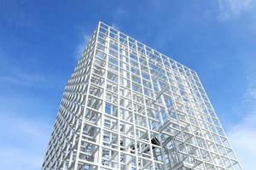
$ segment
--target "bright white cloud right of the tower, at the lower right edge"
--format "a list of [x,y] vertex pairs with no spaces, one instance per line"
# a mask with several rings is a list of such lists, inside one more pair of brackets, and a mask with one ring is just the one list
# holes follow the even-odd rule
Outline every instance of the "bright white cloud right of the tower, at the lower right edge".
[[243,120],[228,131],[230,142],[247,170],[254,170],[256,157],[256,82],[247,78],[247,90],[241,99]]

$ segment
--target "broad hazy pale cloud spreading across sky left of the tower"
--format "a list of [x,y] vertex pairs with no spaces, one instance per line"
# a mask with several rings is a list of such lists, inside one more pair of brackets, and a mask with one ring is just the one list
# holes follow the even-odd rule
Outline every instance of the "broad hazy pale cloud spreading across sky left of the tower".
[[52,128],[45,115],[53,109],[32,88],[40,91],[58,81],[28,65],[13,65],[1,49],[0,59],[0,169],[38,170]]

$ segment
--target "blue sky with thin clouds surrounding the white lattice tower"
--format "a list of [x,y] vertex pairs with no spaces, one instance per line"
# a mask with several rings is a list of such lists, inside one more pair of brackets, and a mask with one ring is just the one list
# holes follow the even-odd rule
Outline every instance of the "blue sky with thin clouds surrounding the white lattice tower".
[[253,0],[1,1],[3,169],[40,169],[65,83],[99,20],[197,71],[243,167],[254,169]]

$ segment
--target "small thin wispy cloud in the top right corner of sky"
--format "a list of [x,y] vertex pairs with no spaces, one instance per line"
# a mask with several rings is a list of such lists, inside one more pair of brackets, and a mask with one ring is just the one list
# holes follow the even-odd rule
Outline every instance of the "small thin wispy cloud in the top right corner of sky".
[[218,0],[218,20],[230,20],[253,8],[253,0]]

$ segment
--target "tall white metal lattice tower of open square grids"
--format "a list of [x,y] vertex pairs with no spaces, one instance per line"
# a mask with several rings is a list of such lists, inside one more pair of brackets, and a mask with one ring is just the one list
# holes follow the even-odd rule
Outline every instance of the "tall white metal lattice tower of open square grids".
[[195,71],[102,22],[67,82],[43,170],[241,170]]

